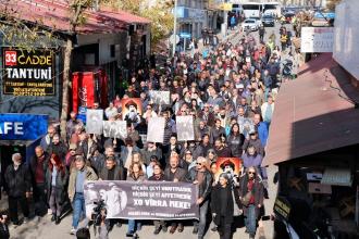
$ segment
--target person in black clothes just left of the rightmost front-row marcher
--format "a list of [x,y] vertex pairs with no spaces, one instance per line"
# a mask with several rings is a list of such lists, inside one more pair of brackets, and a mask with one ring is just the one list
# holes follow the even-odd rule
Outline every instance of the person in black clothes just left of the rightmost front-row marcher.
[[222,173],[211,192],[211,212],[220,239],[232,238],[235,206],[242,207],[238,190],[233,189],[228,174]]

